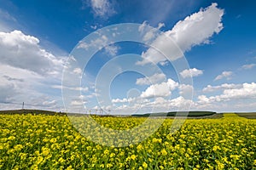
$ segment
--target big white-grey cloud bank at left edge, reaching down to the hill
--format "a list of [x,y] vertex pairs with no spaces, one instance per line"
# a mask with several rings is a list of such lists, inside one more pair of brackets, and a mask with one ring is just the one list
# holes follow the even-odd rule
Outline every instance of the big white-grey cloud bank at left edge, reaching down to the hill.
[[37,37],[22,31],[0,31],[2,109],[20,109],[22,102],[29,107],[61,109],[57,105],[61,96],[53,96],[49,87],[61,83],[65,58],[51,54],[39,43]]

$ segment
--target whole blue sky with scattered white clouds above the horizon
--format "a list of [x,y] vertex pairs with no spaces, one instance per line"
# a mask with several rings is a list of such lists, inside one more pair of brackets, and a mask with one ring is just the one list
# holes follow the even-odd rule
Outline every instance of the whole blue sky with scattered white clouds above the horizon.
[[[254,1],[0,0],[0,4],[2,110],[19,109],[22,102],[26,108],[79,112],[102,108],[113,114],[256,109]],[[154,27],[148,30],[152,42],[108,45],[109,37],[102,36],[93,45],[85,43],[94,31],[122,23]],[[154,53],[150,46],[154,44],[164,54],[175,52],[170,44],[160,43],[157,33],[172,38],[176,45],[171,46],[183,55],[170,62]],[[83,60],[88,47],[102,48],[88,65],[73,63],[72,71],[82,76],[81,87],[68,87],[75,78],[69,73],[70,82],[65,80],[63,87],[62,71],[72,60],[69,54],[77,61],[82,55]],[[97,84],[104,65],[107,70],[102,70],[102,82]],[[175,71],[177,65],[183,70]],[[116,68],[124,72],[107,86],[103,80]],[[147,75],[137,72],[141,68]],[[61,89],[67,92],[66,108]]]

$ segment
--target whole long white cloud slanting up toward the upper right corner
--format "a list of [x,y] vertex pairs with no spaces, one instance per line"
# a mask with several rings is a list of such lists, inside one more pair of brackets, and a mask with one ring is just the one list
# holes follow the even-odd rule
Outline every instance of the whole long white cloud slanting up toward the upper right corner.
[[[137,62],[137,65],[145,65],[151,62],[157,64],[166,61],[166,57],[169,57],[171,61],[176,60],[183,56],[182,52],[189,51],[190,48],[196,45],[209,43],[212,35],[214,33],[218,34],[223,29],[221,22],[223,15],[224,10],[217,8],[217,3],[212,3],[211,6],[178,21],[172,30],[164,32],[164,34],[155,38],[151,44],[161,54],[154,48],[149,48],[148,51],[142,54],[143,60]],[[145,30],[146,24],[144,22],[139,30]],[[148,37],[153,37],[152,30],[148,32],[150,34]],[[148,32],[146,32],[146,35]]]

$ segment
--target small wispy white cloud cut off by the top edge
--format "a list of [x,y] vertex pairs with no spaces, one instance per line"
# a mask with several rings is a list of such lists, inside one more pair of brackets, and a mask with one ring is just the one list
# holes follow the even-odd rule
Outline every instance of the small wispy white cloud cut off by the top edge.
[[96,16],[108,18],[115,14],[113,4],[108,0],[90,0],[90,6]]

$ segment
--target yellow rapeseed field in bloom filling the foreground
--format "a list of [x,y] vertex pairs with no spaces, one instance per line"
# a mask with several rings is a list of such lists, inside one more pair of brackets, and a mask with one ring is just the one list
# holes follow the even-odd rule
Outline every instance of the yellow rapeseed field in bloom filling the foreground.
[[[232,113],[189,119],[176,133],[166,119],[148,139],[127,147],[91,142],[67,116],[0,119],[0,169],[256,169],[256,120]],[[136,127],[144,119],[96,117],[113,129]]]

